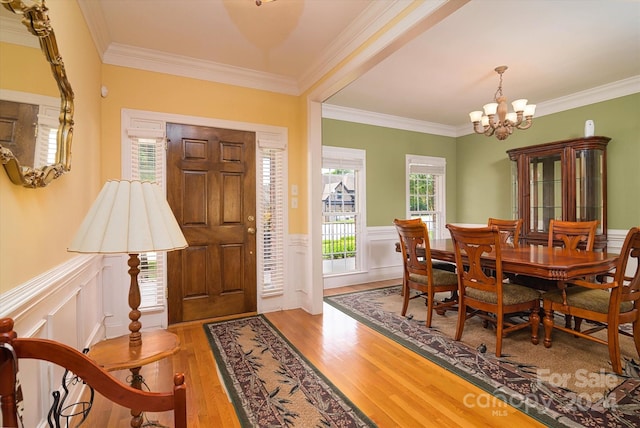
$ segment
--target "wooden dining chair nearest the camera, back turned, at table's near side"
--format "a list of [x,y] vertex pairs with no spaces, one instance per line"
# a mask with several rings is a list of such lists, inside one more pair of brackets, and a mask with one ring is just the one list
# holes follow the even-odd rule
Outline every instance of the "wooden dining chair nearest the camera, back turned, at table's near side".
[[[496,325],[497,357],[502,355],[502,338],[515,330],[530,327],[531,343],[537,344],[540,292],[502,281],[502,246],[498,227],[467,228],[448,224],[447,228],[451,232],[458,272],[455,340],[462,337],[466,320],[478,315]],[[482,258],[485,253],[495,255],[495,266]],[[515,323],[505,317],[525,311],[529,312],[529,320],[523,323]]]

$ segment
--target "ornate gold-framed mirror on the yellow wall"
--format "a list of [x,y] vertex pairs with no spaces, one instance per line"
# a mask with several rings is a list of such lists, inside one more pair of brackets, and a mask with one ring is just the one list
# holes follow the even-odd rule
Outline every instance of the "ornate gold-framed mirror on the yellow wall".
[[[0,98],[3,99],[0,161],[13,183],[30,188],[45,187],[71,169],[73,90],[67,80],[44,0],[29,5],[22,0],[0,0],[0,3],[11,12],[0,8],[3,12],[0,14],[0,63],[3,75],[0,87]],[[33,61],[26,64],[21,62],[30,56],[27,50],[31,49],[29,44],[15,41],[21,37],[19,35],[5,34],[23,27],[28,30],[28,36],[39,44],[38,56],[44,55],[44,67],[53,72],[52,84],[57,88],[59,99],[52,100],[50,96],[39,92],[49,84],[46,80],[50,78],[50,72],[46,73],[46,78],[30,77],[42,73],[34,72]],[[26,94],[28,100],[6,99],[7,94]],[[20,105],[14,105],[15,101],[20,101]],[[52,107],[53,101],[57,101],[59,108],[55,105]],[[55,115],[58,120],[52,121]],[[18,117],[30,119],[26,123],[19,123]],[[47,135],[52,138],[46,138]],[[25,136],[28,136],[26,140],[23,139]],[[44,160],[40,162],[38,158]]]

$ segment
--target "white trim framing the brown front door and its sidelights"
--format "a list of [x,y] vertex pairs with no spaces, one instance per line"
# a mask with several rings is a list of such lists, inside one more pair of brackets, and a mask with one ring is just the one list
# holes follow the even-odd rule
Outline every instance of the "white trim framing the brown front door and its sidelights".
[[[215,118],[207,118],[200,116],[187,116],[173,113],[162,113],[162,112],[153,112],[146,110],[135,110],[135,109],[122,109],[121,111],[121,147],[124,147],[125,144],[128,144],[129,135],[128,130],[131,128],[144,128],[148,130],[153,130],[158,133],[159,137],[166,137],[166,123],[180,123],[185,125],[197,125],[197,126],[206,126],[213,128],[224,128],[224,129],[236,129],[241,131],[249,131],[256,133],[256,173],[259,167],[259,142],[260,141],[269,141],[269,142],[279,142],[288,145],[288,129],[281,126],[271,126],[264,125],[258,123],[250,123],[250,122],[239,122],[239,121],[229,121]],[[130,177],[131,175],[131,158],[130,153],[128,151],[121,151],[121,174],[122,177]],[[256,178],[259,177],[259,174],[256,175]],[[166,186],[166,179],[163,180],[163,186]],[[285,185],[287,185],[288,181],[285,181]],[[256,179],[256,198],[259,196],[259,180]],[[163,188],[166,193],[166,188]],[[285,189],[286,190],[286,189]],[[288,192],[284,192],[285,195]],[[258,201],[256,201],[258,203]],[[285,201],[286,203],[286,201]],[[288,206],[288,205],[286,205]],[[261,228],[261,219],[256,219],[256,226]],[[260,229],[259,229],[260,230]],[[287,259],[287,237],[288,237],[288,223],[285,221],[285,260]],[[166,257],[166,255],[165,255]],[[122,261],[123,265],[126,266],[126,261]],[[272,308],[277,307],[290,307],[290,303],[293,296],[290,293],[294,292],[294,290],[289,290],[288,287],[285,286],[284,292],[282,295],[273,295],[269,294],[268,296],[261,295],[261,279],[262,273],[260,272],[260,268],[262,266],[260,255],[258,255],[258,260],[256,263],[256,281],[257,281],[257,309],[258,313],[268,312],[269,310],[273,310]],[[126,273],[126,272],[125,272]],[[286,276],[288,275],[287,269],[285,268],[285,284],[288,284]],[[165,277],[166,281],[166,277]],[[125,284],[126,285],[126,284]],[[116,319],[126,319],[129,308],[126,305],[126,300],[122,300],[120,298],[116,298],[114,296],[122,296],[126,295],[126,289],[124,286],[122,287],[115,286],[113,288],[105,289],[105,292],[108,292],[110,296],[105,296],[107,301],[112,302],[112,308],[109,311],[110,314],[113,314],[113,318]],[[268,300],[266,299],[268,297]],[[143,313],[143,325],[145,328],[148,327],[160,327],[166,328],[168,325],[168,306],[164,305],[162,308],[158,309],[149,309],[149,310],[141,310]]]

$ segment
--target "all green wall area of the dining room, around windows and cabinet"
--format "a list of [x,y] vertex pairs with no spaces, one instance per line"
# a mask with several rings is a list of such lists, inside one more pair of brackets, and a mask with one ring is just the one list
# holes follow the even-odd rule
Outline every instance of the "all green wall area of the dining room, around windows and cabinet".
[[[405,216],[405,154],[447,159],[447,222],[484,223],[510,218],[511,162],[515,147],[578,138],[595,122],[607,146],[608,228],[640,225],[640,93],[534,119],[504,141],[470,134],[442,137],[323,119],[324,145],[367,152],[367,226],[389,226]],[[471,127],[471,125],[469,125]]]

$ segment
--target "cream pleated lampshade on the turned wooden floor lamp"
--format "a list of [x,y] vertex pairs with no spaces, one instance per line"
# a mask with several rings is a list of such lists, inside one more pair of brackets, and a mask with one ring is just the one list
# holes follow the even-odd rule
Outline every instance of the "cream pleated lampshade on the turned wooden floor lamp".
[[139,254],[178,250],[187,245],[157,184],[108,181],[68,251]]

